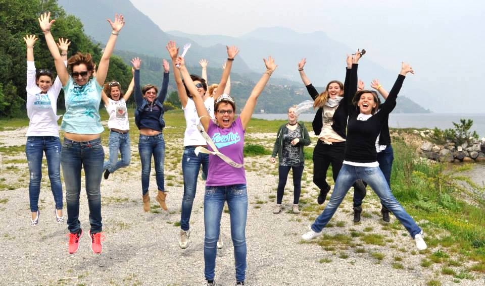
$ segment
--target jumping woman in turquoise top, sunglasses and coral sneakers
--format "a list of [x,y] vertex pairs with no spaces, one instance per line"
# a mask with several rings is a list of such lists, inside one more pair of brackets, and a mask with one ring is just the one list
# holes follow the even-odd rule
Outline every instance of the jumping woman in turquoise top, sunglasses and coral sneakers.
[[51,51],[56,65],[57,74],[61,80],[66,104],[61,129],[64,133],[64,143],[61,149],[61,164],[66,183],[67,224],[69,235],[69,253],[79,249],[79,240],[83,235],[79,221],[79,195],[81,192],[81,168],[84,166],[86,175],[86,193],[89,205],[88,232],[91,239],[91,250],[101,253],[102,235],[101,222],[101,176],[105,153],[101,145],[101,125],[99,106],[101,101],[101,86],[103,85],[110,57],[115,47],[118,34],[125,21],[122,15],[115,14],[115,21],[108,20],[111,25],[111,36],[106,44],[98,71],[94,72],[94,63],[89,53],[77,52],[68,60],[70,74],[62,61],[54,37],[51,34],[51,13],[44,13],[39,18],[40,28],[45,35],[45,41]]

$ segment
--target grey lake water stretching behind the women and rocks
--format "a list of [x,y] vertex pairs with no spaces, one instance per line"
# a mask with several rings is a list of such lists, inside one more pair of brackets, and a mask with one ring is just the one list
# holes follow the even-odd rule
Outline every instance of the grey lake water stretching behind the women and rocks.
[[[304,113],[299,120],[312,122],[315,113]],[[285,113],[254,114],[253,118],[266,120],[285,120]],[[484,114],[456,114],[456,113],[391,113],[389,116],[389,127],[394,128],[429,128],[440,129],[453,128],[452,122],[460,123],[460,119],[473,120],[471,130],[476,131],[481,137],[485,137],[485,115]]]

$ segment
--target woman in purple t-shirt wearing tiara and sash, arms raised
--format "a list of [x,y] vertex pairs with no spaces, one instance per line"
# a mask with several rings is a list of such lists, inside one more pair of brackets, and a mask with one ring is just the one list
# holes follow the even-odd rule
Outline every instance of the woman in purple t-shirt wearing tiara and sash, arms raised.
[[[229,47],[227,48],[229,49]],[[234,61],[233,58],[227,60],[223,77],[224,75],[227,76],[231,69],[232,61]],[[244,160],[244,134],[253,115],[258,96],[263,91],[277,66],[271,57],[268,60],[264,59],[266,71],[253,88],[244,109],[237,119],[234,119],[236,110],[234,100],[225,94],[217,98],[214,104],[215,122],[213,122],[204,106],[204,100],[197,92],[197,88],[190,78],[183,58],[179,57],[176,63],[180,64],[180,72],[189,92],[193,96],[197,113],[201,117],[201,124],[221,153],[220,155],[209,154],[209,171],[204,196],[204,226],[206,230],[204,238],[204,274],[207,280],[206,284],[215,285],[216,243],[219,238],[219,226],[224,201],[227,201],[231,217],[231,238],[234,245],[236,285],[244,285],[246,275],[246,217],[248,213],[246,175],[242,166]],[[214,151],[212,148],[209,148],[209,150]]]

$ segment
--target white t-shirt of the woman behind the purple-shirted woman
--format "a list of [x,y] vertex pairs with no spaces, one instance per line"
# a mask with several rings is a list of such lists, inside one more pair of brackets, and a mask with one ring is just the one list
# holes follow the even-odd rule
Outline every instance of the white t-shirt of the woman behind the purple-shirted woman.
[[[204,101],[207,112],[214,118],[214,98],[209,97]],[[197,130],[196,120],[199,118],[197,115],[196,104],[192,98],[188,98],[187,104],[183,109],[183,116],[185,117],[185,133],[183,136],[183,146],[200,146],[207,145],[206,140],[202,137],[199,130]]]

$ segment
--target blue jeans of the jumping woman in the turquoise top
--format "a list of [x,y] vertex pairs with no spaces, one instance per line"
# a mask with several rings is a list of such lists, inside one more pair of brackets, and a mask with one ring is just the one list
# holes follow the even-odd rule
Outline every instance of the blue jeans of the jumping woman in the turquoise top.
[[62,173],[66,184],[67,225],[71,234],[79,232],[79,196],[81,194],[81,168],[86,177],[87,203],[91,233],[103,230],[101,222],[101,177],[105,151],[101,139],[77,142],[64,138],[61,149]]

